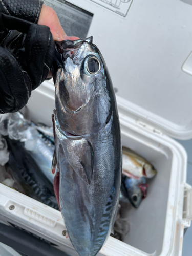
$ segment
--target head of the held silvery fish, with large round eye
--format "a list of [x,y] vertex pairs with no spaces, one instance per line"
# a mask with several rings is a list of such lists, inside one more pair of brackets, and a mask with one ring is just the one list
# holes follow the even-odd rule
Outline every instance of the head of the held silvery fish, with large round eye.
[[[98,107],[94,100],[106,92],[107,71],[102,55],[92,43],[92,37],[55,42],[55,45],[60,64],[52,71],[56,114],[61,129],[72,135],[99,130],[109,115],[105,102]],[[106,101],[109,97],[103,98]],[[109,103],[110,99],[106,104]],[[90,120],[95,120],[94,127],[90,127]]]

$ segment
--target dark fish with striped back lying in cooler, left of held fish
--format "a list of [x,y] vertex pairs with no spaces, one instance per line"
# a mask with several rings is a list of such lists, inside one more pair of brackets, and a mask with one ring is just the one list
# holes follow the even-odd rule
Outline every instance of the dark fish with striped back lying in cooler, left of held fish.
[[6,169],[13,180],[23,188],[27,196],[59,210],[53,185],[25,149],[24,142],[11,140],[8,136],[4,138],[10,153]]

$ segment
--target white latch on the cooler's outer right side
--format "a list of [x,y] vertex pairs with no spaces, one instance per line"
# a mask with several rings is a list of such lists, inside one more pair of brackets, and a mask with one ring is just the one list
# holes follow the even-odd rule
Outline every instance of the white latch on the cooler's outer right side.
[[183,200],[183,224],[185,227],[190,227],[192,220],[192,186],[185,184],[184,200]]

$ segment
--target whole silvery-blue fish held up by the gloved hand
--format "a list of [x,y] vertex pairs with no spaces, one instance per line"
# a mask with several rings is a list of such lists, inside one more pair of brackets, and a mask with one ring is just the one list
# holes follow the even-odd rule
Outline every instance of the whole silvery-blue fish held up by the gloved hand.
[[55,44],[54,189],[74,248],[80,256],[95,256],[111,233],[119,202],[115,94],[92,37]]

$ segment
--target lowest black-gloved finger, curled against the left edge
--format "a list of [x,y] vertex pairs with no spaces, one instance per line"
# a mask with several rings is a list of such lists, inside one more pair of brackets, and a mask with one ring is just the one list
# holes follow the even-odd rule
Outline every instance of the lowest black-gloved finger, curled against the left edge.
[[30,95],[28,74],[8,50],[0,47],[0,113],[19,111]]

